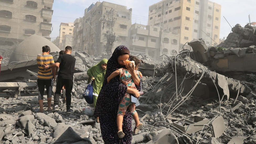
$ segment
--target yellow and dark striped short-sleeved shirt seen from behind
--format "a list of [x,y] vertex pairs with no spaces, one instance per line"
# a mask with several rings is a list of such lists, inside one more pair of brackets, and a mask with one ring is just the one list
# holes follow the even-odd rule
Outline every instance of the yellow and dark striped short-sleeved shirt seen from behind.
[[42,55],[38,54],[37,55],[37,65],[38,65],[38,73],[37,73],[37,78],[38,79],[52,79],[52,70],[44,70],[43,65],[50,65],[54,64],[54,60],[52,55]]

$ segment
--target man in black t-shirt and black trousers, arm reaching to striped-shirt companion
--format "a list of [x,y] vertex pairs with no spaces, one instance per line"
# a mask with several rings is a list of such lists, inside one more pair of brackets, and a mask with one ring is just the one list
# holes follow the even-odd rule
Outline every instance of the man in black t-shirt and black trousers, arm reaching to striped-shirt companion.
[[72,47],[66,46],[65,55],[59,56],[57,62],[54,65],[44,65],[45,69],[50,69],[54,67],[60,68],[58,72],[58,81],[56,84],[56,92],[54,94],[54,108],[51,112],[58,111],[58,105],[60,101],[61,89],[65,85],[66,87],[66,106],[67,106],[67,114],[72,113],[70,110],[71,106],[71,92],[73,89],[73,75],[76,58],[71,55]]

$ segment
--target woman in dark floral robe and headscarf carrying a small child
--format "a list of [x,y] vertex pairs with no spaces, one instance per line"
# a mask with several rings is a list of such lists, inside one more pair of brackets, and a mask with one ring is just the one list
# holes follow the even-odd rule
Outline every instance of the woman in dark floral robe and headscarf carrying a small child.
[[125,67],[122,63],[129,59],[129,55],[130,52],[127,47],[116,47],[108,60],[104,83],[96,103],[94,116],[99,116],[100,129],[105,144],[130,144],[132,140],[131,113],[129,110],[125,113],[122,125],[125,137],[122,139],[120,139],[117,134],[116,116],[118,104],[126,92],[134,94],[135,97],[140,95],[137,90],[141,90],[141,82],[140,86],[137,87],[137,90],[127,88],[127,86],[120,82],[118,77],[111,79],[109,83],[107,82],[107,78],[112,72],[118,68]]

